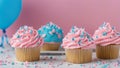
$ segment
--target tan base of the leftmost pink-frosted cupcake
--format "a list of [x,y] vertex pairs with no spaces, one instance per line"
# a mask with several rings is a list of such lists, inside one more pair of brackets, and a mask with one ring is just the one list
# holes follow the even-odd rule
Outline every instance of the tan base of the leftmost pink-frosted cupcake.
[[16,59],[18,61],[38,61],[40,59],[40,47],[15,48]]

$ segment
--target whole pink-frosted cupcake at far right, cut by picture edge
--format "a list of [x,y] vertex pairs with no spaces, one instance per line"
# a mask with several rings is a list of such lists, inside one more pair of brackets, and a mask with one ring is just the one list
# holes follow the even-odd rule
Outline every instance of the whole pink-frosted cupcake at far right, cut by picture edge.
[[120,35],[109,23],[102,24],[94,33],[96,55],[100,59],[115,59],[119,56]]

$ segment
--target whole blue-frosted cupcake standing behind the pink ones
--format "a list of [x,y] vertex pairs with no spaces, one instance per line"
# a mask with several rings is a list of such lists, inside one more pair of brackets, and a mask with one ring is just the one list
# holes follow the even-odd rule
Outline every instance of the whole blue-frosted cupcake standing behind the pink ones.
[[42,51],[56,51],[59,49],[63,39],[63,32],[59,26],[49,22],[39,28],[38,33],[44,39],[44,46],[41,47]]

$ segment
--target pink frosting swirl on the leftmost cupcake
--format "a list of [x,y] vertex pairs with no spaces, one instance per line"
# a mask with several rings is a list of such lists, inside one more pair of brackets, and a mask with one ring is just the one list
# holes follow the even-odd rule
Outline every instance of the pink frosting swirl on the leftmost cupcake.
[[22,26],[10,39],[10,44],[16,48],[31,48],[41,46],[43,39],[33,27]]

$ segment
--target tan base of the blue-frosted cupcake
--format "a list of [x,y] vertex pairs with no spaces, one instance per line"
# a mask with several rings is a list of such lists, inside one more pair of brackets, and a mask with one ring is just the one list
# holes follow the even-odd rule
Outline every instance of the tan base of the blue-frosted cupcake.
[[44,43],[41,47],[41,51],[57,51],[60,47],[60,43]]

